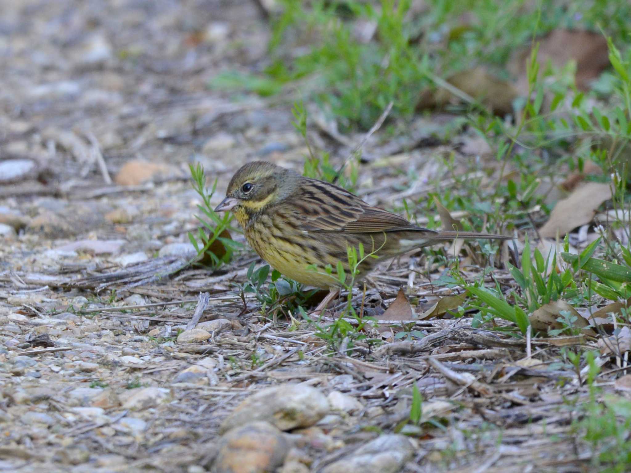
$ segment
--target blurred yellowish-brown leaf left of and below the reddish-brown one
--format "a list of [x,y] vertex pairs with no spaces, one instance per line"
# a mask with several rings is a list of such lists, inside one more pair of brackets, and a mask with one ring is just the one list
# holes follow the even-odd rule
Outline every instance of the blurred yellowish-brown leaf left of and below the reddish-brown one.
[[[484,67],[475,67],[454,74],[447,82],[467,95],[475,98],[497,115],[512,114],[513,100],[519,95],[516,88],[493,74]],[[417,108],[441,108],[445,105],[457,105],[461,99],[445,88],[422,93]]]

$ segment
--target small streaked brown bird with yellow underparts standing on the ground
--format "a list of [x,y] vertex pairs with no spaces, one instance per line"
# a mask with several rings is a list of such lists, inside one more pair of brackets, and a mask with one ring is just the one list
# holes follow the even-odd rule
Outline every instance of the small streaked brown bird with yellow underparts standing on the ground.
[[317,313],[338,295],[341,286],[336,275],[327,274],[324,268],[329,264],[335,268],[339,261],[348,274],[349,246],[358,249],[362,243],[365,254],[374,252],[376,256],[365,258],[358,266],[361,278],[380,260],[415,248],[454,238],[511,238],[422,228],[370,206],[337,185],[266,161],[242,166],[215,211],[232,211],[251,247],[281,274],[298,283],[329,289],[315,309]]

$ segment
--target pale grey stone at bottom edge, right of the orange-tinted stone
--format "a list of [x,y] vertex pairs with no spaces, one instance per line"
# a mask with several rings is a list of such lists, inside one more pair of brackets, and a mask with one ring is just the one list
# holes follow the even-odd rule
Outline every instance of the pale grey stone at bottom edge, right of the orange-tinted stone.
[[382,435],[333,462],[322,473],[396,473],[410,460],[415,445],[399,434]]

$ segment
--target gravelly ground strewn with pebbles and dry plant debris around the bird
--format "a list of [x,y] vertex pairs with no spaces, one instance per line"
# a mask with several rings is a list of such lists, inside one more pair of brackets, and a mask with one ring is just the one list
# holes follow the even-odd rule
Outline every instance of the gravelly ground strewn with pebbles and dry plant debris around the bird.
[[[599,452],[575,421],[593,395],[591,375],[571,357],[598,355],[594,409],[628,402],[631,332],[611,316],[626,313],[628,296],[587,309],[541,304],[521,336],[501,319],[475,325],[470,295],[444,284],[445,260],[405,255],[353,290],[365,337],[332,350],[328,327],[358,326],[343,298],[309,324],[287,309],[292,300],[269,305],[240,290],[251,265],[261,267],[248,250],[214,271],[191,266],[192,156],[218,178],[216,199],[247,160],[302,170],[309,152],[282,100],[208,89],[227,66],[268,65],[261,14],[275,15],[277,3],[23,0],[0,10],[0,470],[589,470]],[[374,25],[363,29],[374,37]],[[603,44],[586,47],[592,39],[553,32],[541,59],[574,59],[584,88],[603,66]],[[574,46],[558,55],[557,42]],[[451,85],[500,113],[521,90],[481,68]],[[443,133],[445,115],[417,117],[396,139],[346,136],[335,120],[311,119],[307,139],[332,162],[363,144],[362,198],[431,202],[418,223],[463,228],[460,218],[477,209],[450,212],[428,195],[458,195],[462,176],[478,189],[500,179],[479,137]],[[481,168],[471,170],[472,159]],[[574,184],[549,219],[529,215],[541,237],[574,231],[578,254],[611,190]],[[509,294],[517,285],[506,263],[519,260],[523,233],[492,274],[469,243],[442,255],[461,256],[466,282]],[[238,232],[221,236],[244,243]],[[560,245],[539,243],[550,261],[542,274],[569,264]],[[283,279],[272,286],[297,297]],[[577,317],[579,333],[536,333],[562,330],[563,313]]]

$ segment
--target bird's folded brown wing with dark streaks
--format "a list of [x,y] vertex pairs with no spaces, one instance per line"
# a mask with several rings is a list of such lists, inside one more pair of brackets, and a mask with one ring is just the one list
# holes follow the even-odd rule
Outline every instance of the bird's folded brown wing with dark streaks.
[[353,233],[427,230],[384,209],[369,206],[341,187],[313,179],[305,179],[292,199],[292,206],[300,230]]

